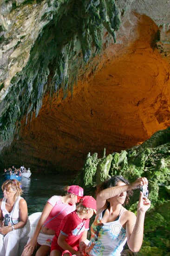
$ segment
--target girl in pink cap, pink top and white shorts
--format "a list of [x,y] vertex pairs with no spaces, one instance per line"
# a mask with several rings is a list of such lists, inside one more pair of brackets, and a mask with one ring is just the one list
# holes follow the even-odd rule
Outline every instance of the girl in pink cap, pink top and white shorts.
[[52,238],[58,231],[62,219],[76,209],[76,203],[83,197],[83,189],[79,186],[67,186],[65,195],[53,195],[43,209],[33,236],[26,244],[22,256],[31,256],[35,250],[36,256],[50,254]]

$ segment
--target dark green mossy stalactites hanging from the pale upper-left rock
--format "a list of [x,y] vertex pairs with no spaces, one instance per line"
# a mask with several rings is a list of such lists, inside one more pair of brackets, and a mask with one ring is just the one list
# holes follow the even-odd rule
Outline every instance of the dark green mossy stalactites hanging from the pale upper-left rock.
[[[26,6],[38,8],[41,2],[21,1],[18,5],[13,1],[7,9],[11,13],[13,8],[22,12]],[[64,99],[68,91],[73,91],[79,70],[102,50],[104,29],[116,40],[120,17],[114,0],[52,0],[47,4],[53,8],[41,20],[49,22],[35,41],[26,66],[13,77],[0,103],[0,137],[4,141],[12,141],[25,115],[38,115],[47,93],[52,99],[62,89]]]

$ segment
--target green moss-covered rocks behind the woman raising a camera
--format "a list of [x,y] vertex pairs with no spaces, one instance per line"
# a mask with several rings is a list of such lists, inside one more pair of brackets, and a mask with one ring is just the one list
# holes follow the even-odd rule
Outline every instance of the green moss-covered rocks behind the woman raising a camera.
[[[88,177],[91,175],[91,169],[93,179],[89,179],[89,182],[86,179],[84,187],[85,192],[90,192],[91,194],[94,193],[92,185],[94,187],[95,184],[100,184],[112,175],[122,175],[130,182],[140,176],[148,179],[151,207],[145,216],[144,243],[140,251],[135,255],[169,255],[170,127],[156,132],[149,140],[138,147],[133,147],[126,151],[122,150],[120,153],[114,152],[111,155],[105,156],[104,154],[102,159],[98,159],[97,153],[95,153],[95,168],[94,161],[91,165],[88,160]],[[83,171],[86,173],[86,162]],[[80,173],[82,174],[82,171]],[[79,174],[76,182],[79,182]],[[83,183],[81,185],[84,186]],[[130,205],[127,206],[135,214],[138,198],[139,191],[137,189],[134,190]],[[129,255],[128,250],[125,250],[124,253]]]

